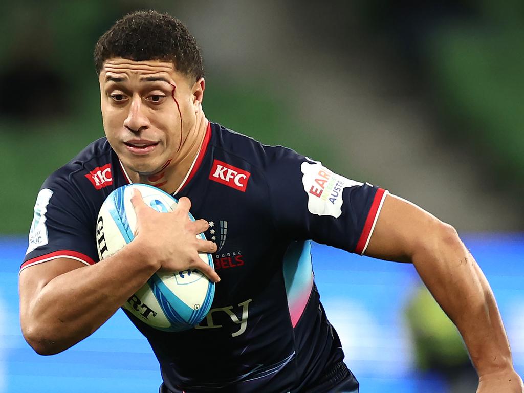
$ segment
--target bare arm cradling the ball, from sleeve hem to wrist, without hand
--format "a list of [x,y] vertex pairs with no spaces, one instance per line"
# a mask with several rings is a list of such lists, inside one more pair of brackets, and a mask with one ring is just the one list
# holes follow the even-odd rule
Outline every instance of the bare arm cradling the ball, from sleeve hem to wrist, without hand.
[[155,261],[130,243],[93,266],[53,259],[20,272],[20,325],[41,355],[66,350],[98,329],[154,274]]

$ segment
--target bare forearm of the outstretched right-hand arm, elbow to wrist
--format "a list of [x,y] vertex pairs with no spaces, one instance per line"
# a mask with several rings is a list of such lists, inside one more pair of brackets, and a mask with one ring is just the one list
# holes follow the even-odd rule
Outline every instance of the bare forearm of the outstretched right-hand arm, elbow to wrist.
[[412,257],[420,277],[461,332],[479,375],[511,368],[511,352],[493,291],[454,231],[438,240],[436,252]]

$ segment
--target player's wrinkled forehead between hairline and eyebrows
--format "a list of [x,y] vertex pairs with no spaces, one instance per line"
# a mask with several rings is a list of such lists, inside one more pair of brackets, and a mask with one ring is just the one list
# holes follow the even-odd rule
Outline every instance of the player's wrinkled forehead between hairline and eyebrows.
[[145,60],[135,61],[123,58],[108,59],[104,62],[100,72],[102,82],[108,81],[109,77],[134,79],[136,77],[164,76],[174,80],[178,72],[170,61]]

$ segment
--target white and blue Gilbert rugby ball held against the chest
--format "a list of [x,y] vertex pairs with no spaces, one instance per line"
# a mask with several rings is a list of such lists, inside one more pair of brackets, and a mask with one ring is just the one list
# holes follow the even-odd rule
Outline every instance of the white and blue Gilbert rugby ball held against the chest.
[[[136,214],[131,203],[135,188],[151,209],[167,213],[177,208],[176,199],[151,185],[128,184],[114,190],[102,204],[96,222],[100,260],[114,255],[135,237]],[[194,221],[191,213],[189,218]],[[196,237],[205,239],[203,233]],[[199,256],[214,267],[211,255],[199,253]],[[211,308],[214,293],[214,283],[199,270],[157,272],[123,304],[123,308],[153,328],[180,332],[193,328],[204,319]]]

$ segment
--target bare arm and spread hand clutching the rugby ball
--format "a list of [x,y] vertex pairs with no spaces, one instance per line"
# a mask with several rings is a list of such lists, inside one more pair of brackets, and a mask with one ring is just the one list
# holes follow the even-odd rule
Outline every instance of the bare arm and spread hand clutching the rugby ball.
[[198,256],[199,251],[213,252],[216,245],[195,237],[208,223],[189,221],[189,199],[181,198],[170,213],[150,209],[138,194],[132,202],[136,237],[114,256],[93,266],[60,258],[21,271],[20,325],[39,354],[64,351],[89,336],[158,269],[198,268],[219,280]]

